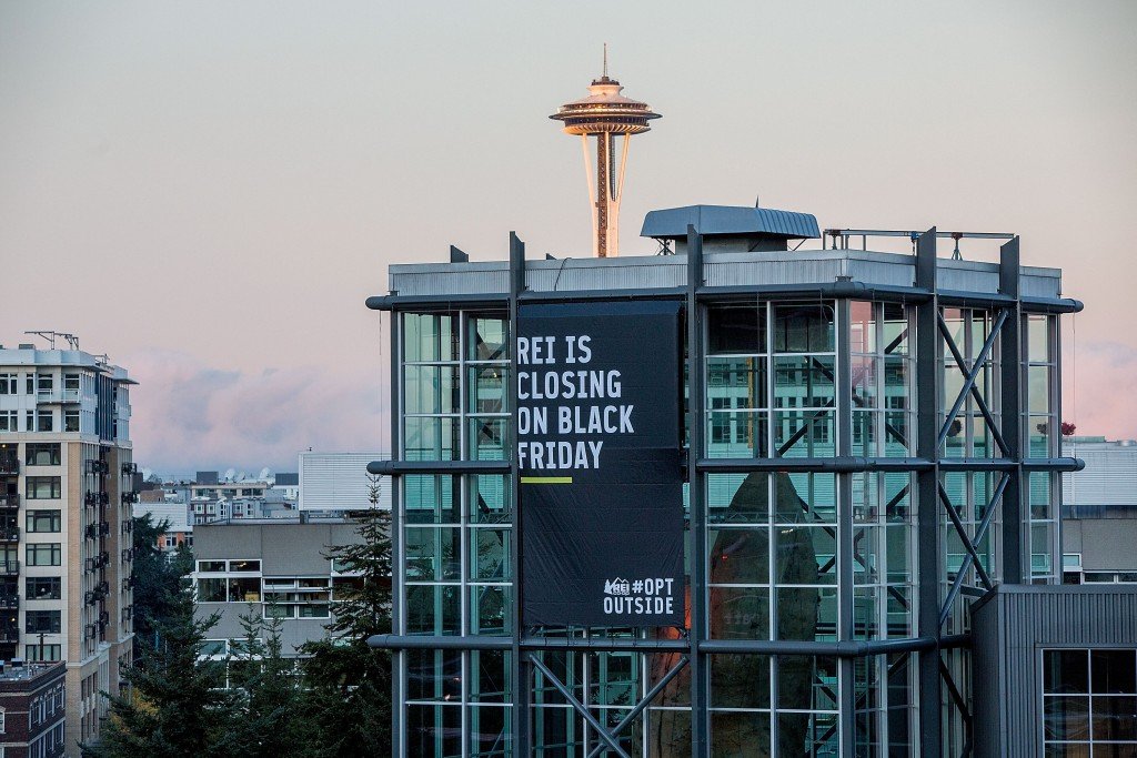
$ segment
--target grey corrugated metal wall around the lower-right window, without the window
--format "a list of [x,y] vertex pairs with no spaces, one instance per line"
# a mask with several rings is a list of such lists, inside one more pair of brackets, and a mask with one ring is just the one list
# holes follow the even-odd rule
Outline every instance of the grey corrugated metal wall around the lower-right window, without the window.
[[1001,585],[972,619],[976,755],[1040,756],[1039,651],[1137,648],[1137,585]]

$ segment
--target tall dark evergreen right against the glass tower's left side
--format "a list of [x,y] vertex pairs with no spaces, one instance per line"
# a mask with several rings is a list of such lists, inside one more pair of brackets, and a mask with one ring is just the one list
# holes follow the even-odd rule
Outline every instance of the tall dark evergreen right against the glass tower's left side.
[[375,508],[379,477],[370,478],[372,509],[357,514],[360,541],[329,553],[356,581],[337,585],[329,636],[304,645],[312,756],[391,755],[391,657],[367,647],[368,636],[391,631],[391,519]]

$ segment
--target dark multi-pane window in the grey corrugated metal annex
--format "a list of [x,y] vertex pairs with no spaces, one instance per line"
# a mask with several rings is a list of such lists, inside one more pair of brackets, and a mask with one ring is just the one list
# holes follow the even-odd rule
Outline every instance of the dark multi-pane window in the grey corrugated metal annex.
[[1137,650],[1044,650],[1047,755],[1137,752]]

